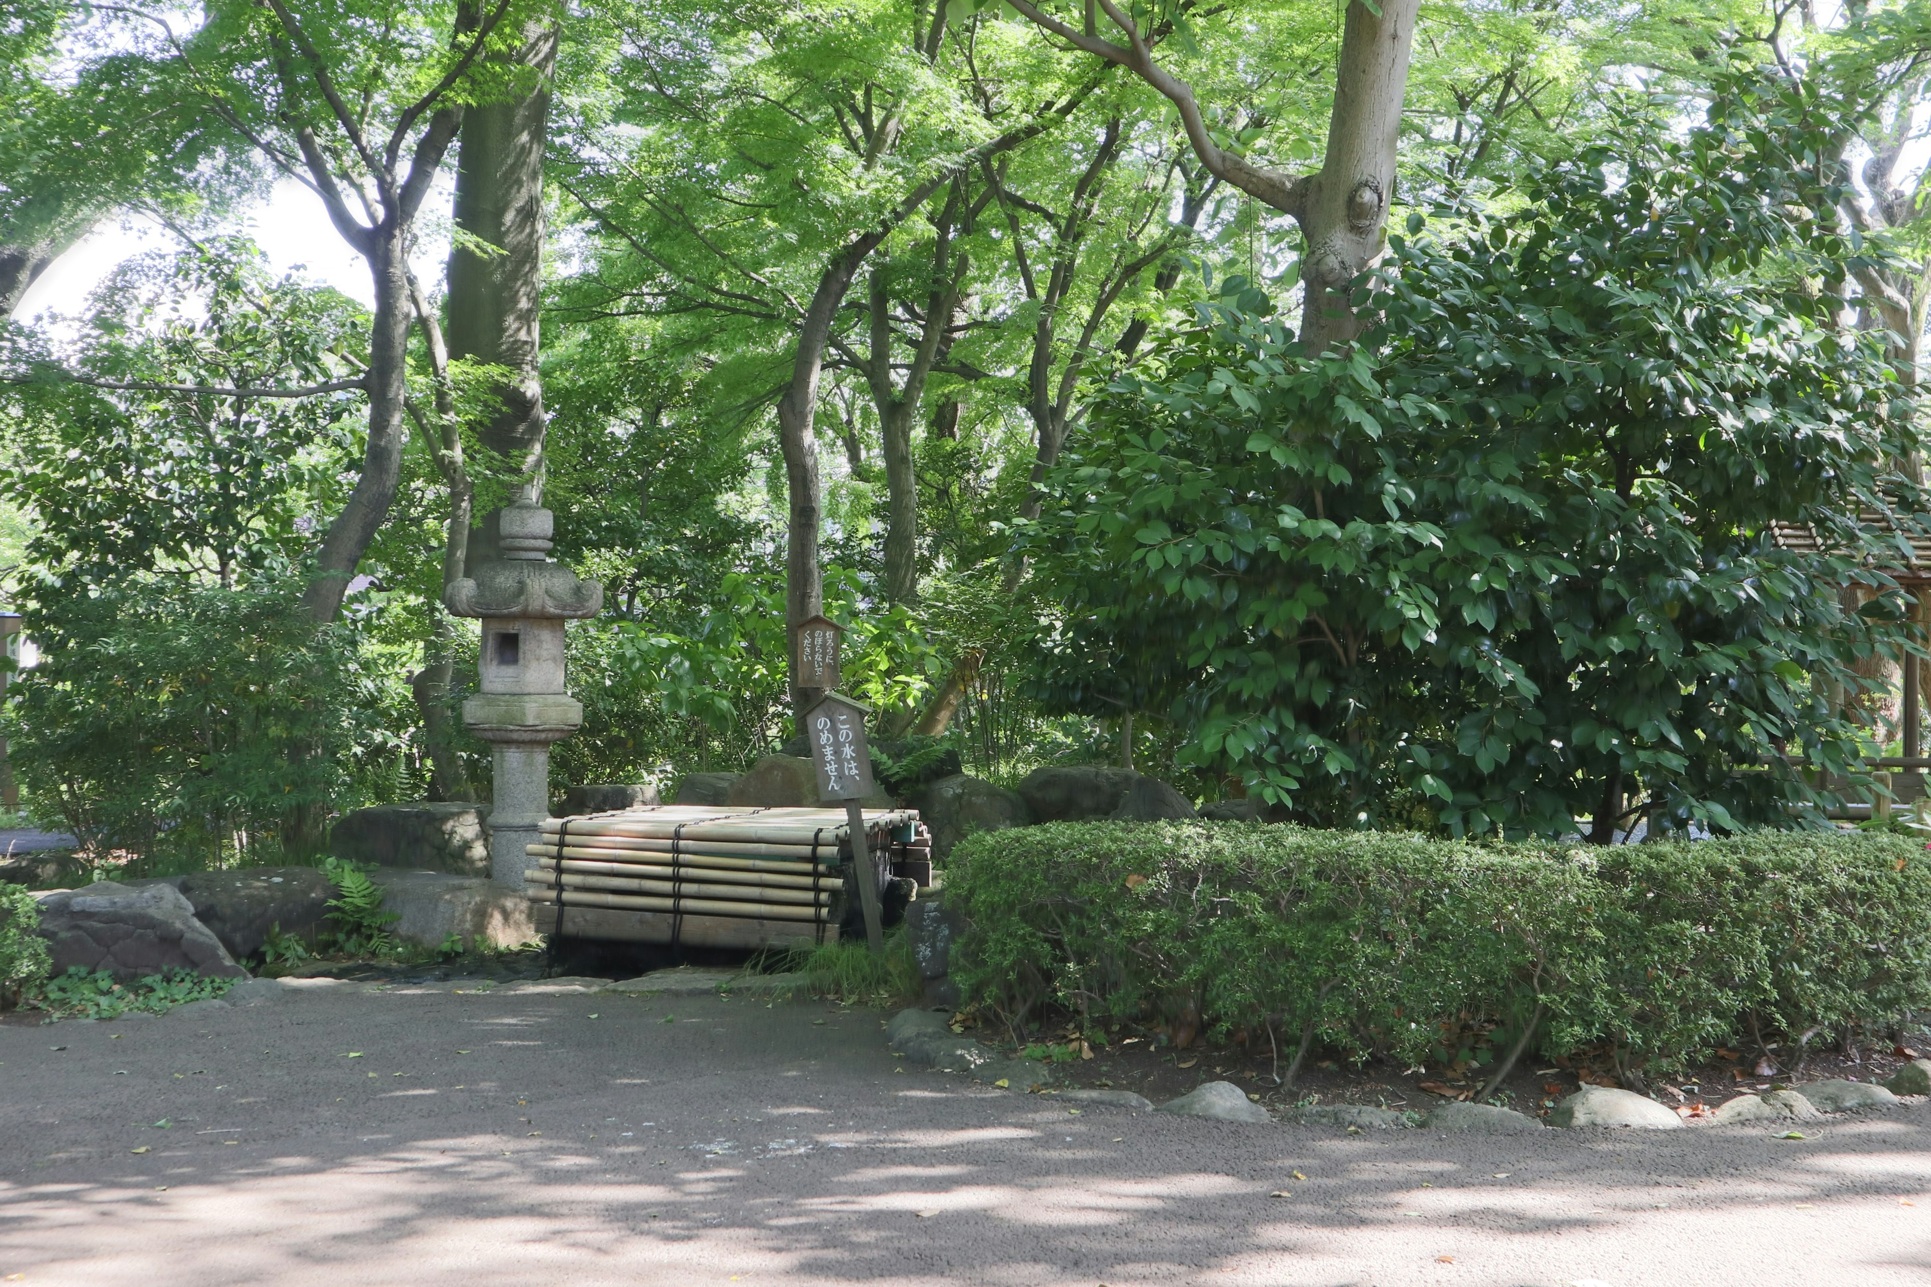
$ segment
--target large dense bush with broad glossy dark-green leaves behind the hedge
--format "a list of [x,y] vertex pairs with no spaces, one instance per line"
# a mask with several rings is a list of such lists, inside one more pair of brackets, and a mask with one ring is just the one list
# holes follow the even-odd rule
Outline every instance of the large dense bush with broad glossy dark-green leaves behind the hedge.
[[1858,774],[1833,693],[1904,637],[1898,538],[1861,515],[1931,531],[1910,390],[1836,316],[1883,259],[1813,164],[1838,125],[1738,75],[1508,214],[1413,214],[1346,355],[1226,282],[1108,386],[1023,536],[1068,600],[1035,695],[1168,716],[1184,762],[1327,826],[1805,822],[1784,754]]

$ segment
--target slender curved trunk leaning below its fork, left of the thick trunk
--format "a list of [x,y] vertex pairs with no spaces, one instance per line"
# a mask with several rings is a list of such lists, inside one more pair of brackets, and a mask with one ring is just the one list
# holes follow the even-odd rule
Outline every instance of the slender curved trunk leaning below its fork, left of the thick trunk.
[[355,565],[375,538],[402,479],[402,415],[407,394],[409,266],[402,232],[371,237],[369,274],[375,280],[375,318],[369,324],[369,442],[361,477],[342,513],[328,525],[315,556],[315,579],[301,596],[317,621],[342,612]]

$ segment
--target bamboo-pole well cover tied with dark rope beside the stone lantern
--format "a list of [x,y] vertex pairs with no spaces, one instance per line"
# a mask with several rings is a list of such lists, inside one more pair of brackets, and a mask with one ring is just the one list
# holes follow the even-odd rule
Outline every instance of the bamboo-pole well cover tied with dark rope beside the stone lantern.
[[[881,884],[931,880],[931,832],[911,808],[863,810]],[[836,942],[857,917],[844,808],[645,805],[545,818],[527,845],[537,928],[703,947]]]

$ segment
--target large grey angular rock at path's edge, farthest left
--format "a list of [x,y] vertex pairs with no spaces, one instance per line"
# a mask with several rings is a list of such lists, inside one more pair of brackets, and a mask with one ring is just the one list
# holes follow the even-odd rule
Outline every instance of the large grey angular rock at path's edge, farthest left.
[[52,971],[108,971],[135,982],[166,971],[195,971],[209,978],[247,978],[222,940],[195,920],[195,907],[164,884],[129,888],[98,880],[81,890],[41,895],[41,938]]

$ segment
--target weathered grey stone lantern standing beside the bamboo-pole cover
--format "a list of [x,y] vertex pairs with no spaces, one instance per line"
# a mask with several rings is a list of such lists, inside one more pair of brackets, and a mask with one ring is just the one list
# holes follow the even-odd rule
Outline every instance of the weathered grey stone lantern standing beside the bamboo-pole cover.
[[483,691],[463,702],[463,724],[490,743],[496,764],[490,874],[521,890],[523,847],[550,816],[550,743],[583,724],[583,702],[564,691],[564,621],[597,616],[602,585],[548,560],[554,517],[537,502],[504,506],[498,531],[500,558],[450,583],[442,602],[483,619]]

